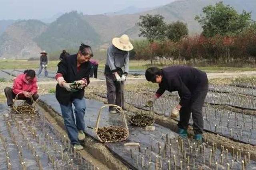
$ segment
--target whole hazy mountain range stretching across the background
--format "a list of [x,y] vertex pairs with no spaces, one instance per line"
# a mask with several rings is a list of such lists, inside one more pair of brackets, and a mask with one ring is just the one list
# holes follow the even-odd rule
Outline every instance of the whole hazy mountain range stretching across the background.
[[[106,15],[84,15],[69,12],[58,17],[50,24],[38,20],[16,21],[9,25],[0,36],[0,57],[28,58],[38,56],[39,51],[61,51],[62,49],[78,49],[80,43],[93,47],[106,48],[113,37],[122,34],[137,39],[139,27],[136,23],[140,15],[160,14],[165,21],[180,20],[188,24],[189,33],[202,31],[201,26],[194,20],[196,15],[202,14],[202,8],[214,5],[219,0],[179,0],[147,11],[130,7],[116,13]],[[256,0],[223,0],[238,12],[246,10],[252,12],[252,19],[256,20]]]

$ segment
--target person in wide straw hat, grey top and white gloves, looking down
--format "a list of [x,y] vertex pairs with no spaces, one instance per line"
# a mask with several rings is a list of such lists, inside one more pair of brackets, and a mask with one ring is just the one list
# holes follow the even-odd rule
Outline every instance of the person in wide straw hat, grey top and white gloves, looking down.
[[[129,72],[129,57],[133,49],[128,35],[112,39],[108,48],[105,64],[108,104],[116,104],[124,108],[124,81]],[[122,68],[124,70],[122,70]],[[109,107],[110,113],[116,113],[114,107]]]

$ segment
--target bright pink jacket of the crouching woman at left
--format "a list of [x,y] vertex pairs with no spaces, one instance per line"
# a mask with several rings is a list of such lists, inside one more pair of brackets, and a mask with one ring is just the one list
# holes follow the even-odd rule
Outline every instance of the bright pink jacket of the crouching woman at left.
[[33,94],[37,93],[37,79],[36,77],[32,80],[32,82],[29,82],[25,79],[26,74],[20,74],[18,75],[13,83],[12,91],[14,94],[18,94],[19,92],[31,92]]

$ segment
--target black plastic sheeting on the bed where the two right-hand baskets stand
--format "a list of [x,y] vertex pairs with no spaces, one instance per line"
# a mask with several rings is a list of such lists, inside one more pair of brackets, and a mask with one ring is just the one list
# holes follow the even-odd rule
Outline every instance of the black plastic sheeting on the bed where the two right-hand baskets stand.
[[[60,107],[58,102],[56,101],[54,95],[44,95],[40,97],[40,100],[50,106],[52,109],[54,109],[56,112],[58,112],[60,115]],[[94,126],[96,124],[96,118],[98,116],[98,111],[100,107],[104,106],[103,103],[98,102],[96,100],[86,100],[86,115],[85,115],[85,121],[86,126]],[[120,115],[112,115],[108,113],[107,109],[103,110],[102,113],[102,119],[100,126],[108,126],[108,125],[120,125],[121,116]],[[152,169],[155,170],[155,164],[156,158],[160,158],[158,161],[162,161],[162,169],[168,169],[168,160],[171,162],[171,169],[174,169],[174,162],[173,162],[173,155],[176,155],[176,165],[177,168],[180,167],[180,160],[183,161],[183,168],[190,166],[191,169],[198,169],[199,166],[203,169],[211,169],[208,166],[209,163],[209,153],[211,147],[206,147],[204,153],[198,152],[198,156],[196,156],[195,151],[193,153],[190,153],[190,147],[188,146],[188,140],[184,140],[184,149],[186,150],[187,156],[190,156],[190,163],[186,163],[186,160],[183,160],[183,154],[178,154],[178,147],[176,143],[177,134],[170,131],[170,129],[167,129],[165,127],[162,127],[160,125],[154,124],[156,127],[155,131],[145,131],[142,127],[133,127],[129,124],[129,131],[130,135],[128,139],[125,142],[119,142],[119,143],[107,143],[105,144],[106,147],[120,160],[124,162],[127,166],[129,166],[131,169],[138,169],[138,170],[148,170]],[[91,137],[96,138],[95,133],[92,131],[91,128],[86,128],[86,133],[90,135]],[[166,139],[166,134],[168,134],[168,140]],[[140,143],[140,151],[138,150],[138,147],[124,147],[125,143],[128,142],[136,142]],[[195,141],[191,140],[190,143],[194,143]],[[164,147],[165,143],[166,145],[166,154],[163,156],[163,152],[159,153],[159,147]],[[172,152],[170,152],[170,145],[172,148]],[[195,144],[195,147],[198,144]],[[201,145],[202,146],[202,145]],[[151,150],[153,149],[153,151]],[[198,149],[198,148],[197,148]],[[131,152],[132,150],[132,158],[131,158]],[[214,156],[212,158],[212,164],[215,162],[220,162],[220,150],[216,150],[214,153]],[[203,157],[204,156],[204,157]],[[142,167],[142,159],[144,159],[144,167]],[[193,167],[193,159],[195,160],[195,168]],[[203,160],[205,159],[205,163]],[[227,162],[231,162],[231,160],[234,159],[230,154],[228,154]],[[151,160],[151,163],[149,163]],[[233,169],[241,169],[241,161],[237,160],[234,162]],[[224,166],[220,165],[219,168],[223,169],[225,168],[226,163],[224,163]],[[249,169],[255,169],[256,162],[252,161],[250,164],[247,164],[246,168]]]

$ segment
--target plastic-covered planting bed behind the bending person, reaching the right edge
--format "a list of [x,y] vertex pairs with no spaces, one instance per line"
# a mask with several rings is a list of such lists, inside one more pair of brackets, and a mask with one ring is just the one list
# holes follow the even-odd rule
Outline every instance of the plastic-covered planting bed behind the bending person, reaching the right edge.
[[[131,92],[125,92],[124,98],[126,103],[130,104],[132,102],[132,95],[133,94]],[[104,94],[100,96],[106,98],[106,95]],[[146,94],[139,94],[134,98],[133,105],[137,108],[142,108],[148,98],[150,98],[150,95],[147,96]],[[176,106],[178,102],[179,99],[176,97],[161,97],[156,100],[154,104],[154,111],[157,114],[170,117],[171,109]],[[237,113],[223,108],[211,107],[210,105],[205,105],[202,111],[205,131],[217,133],[241,143],[256,145],[255,116]],[[176,120],[178,121],[179,118]],[[190,125],[192,124],[192,117],[190,117]]]

